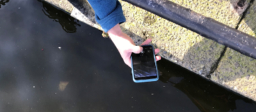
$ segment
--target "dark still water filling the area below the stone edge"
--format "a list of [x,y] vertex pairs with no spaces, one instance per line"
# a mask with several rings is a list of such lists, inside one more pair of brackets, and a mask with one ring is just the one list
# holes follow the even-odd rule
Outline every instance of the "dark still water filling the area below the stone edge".
[[160,81],[133,83],[101,31],[40,1],[0,6],[0,112],[256,111],[252,100],[166,60],[157,63]]

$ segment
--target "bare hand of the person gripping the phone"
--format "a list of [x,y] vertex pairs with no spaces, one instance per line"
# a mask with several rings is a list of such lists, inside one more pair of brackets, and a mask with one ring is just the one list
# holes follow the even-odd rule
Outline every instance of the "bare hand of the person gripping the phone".
[[[109,38],[111,38],[112,42],[115,44],[119,53],[121,54],[126,65],[131,67],[131,54],[132,52],[138,54],[143,49],[140,46],[136,46],[131,37],[122,32],[119,24],[116,24],[113,28],[108,31]],[[147,39],[141,45],[147,45],[151,42],[151,39]],[[159,49],[155,49],[155,53],[157,54]],[[161,60],[161,56],[156,56],[156,61]]]

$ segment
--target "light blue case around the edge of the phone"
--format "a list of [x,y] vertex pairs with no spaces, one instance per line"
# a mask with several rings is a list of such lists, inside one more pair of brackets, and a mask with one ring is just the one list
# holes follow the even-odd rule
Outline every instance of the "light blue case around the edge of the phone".
[[[143,46],[152,46],[152,45],[141,45],[141,47]],[[152,46],[153,49],[153,53],[155,54],[155,50],[154,47]],[[136,80],[134,78],[134,70],[133,70],[133,62],[132,62],[132,79],[135,83],[145,83],[145,82],[152,82],[152,81],[157,81],[159,79],[159,75],[158,75],[158,69],[157,69],[157,63],[156,63],[156,56],[154,56],[154,60],[155,60],[155,65],[156,65],[156,75],[157,77],[155,79],[141,79],[141,80]],[[132,56],[131,56],[131,61],[132,61]]]

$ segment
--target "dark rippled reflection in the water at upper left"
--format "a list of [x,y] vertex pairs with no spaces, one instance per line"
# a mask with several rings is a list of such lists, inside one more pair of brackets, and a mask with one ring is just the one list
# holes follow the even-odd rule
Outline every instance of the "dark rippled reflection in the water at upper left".
[[70,17],[70,15],[62,12],[61,10],[58,10],[57,8],[54,8],[51,6],[51,4],[45,2],[42,3],[44,7],[44,14],[47,15],[47,17],[50,19],[53,19],[55,22],[59,22],[67,33],[75,33],[77,29],[76,26],[81,26],[78,24],[79,20]]

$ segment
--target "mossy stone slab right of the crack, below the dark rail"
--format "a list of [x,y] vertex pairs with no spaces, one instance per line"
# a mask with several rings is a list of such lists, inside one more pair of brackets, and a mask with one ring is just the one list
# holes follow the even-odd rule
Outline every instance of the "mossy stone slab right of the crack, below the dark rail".
[[256,60],[227,49],[211,79],[256,100]]

